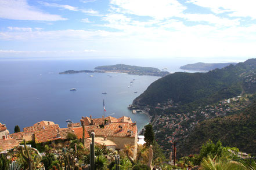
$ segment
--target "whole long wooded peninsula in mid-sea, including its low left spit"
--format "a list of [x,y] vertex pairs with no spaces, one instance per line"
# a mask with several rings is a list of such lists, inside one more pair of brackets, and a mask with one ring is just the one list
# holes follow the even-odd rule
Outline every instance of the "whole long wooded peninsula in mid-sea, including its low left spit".
[[68,71],[60,72],[60,74],[73,74],[73,73],[83,73],[83,72],[84,73],[117,72],[117,73],[128,73],[129,75],[147,75],[147,76],[161,76],[161,77],[170,74],[167,71],[160,71],[160,69],[153,68],[153,67],[125,65],[125,64],[96,66],[95,71],[90,71],[90,70],[82,70],[82,71],[68,70]]

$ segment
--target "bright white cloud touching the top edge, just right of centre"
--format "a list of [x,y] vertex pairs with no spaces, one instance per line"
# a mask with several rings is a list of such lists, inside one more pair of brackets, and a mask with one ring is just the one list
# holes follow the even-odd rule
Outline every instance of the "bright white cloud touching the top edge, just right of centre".
[[118,12],[149,16],[154,19],[178,16],[186,9],[186,6],[176,0],[111,0],[110,3],[117,6],[116,10]]

